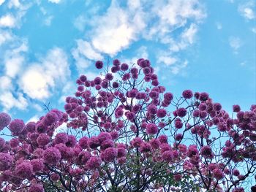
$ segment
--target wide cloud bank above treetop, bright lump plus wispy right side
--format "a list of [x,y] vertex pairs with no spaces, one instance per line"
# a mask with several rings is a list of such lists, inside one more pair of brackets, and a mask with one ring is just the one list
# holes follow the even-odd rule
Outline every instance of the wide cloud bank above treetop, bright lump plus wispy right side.
[[[94,53],[113,57],[143,38],[164,44],[165,50],[169,48],[172,56],[165,55],[162,61],[174,64],[175,59],[179,59],[173,53],[195,44],[198,24],[206,18],[205,9],[198,0],[129,0],[121,6],[118,2],[112,1],[105,13],[96,12],[94,20],[86,21],[91,31],[86,34],[86,40],[80,39],[83,42],[80,47],[85,47],[83,52],[91,49],[92,52],[83,53],[79,45],[72,51],[78,69],[88,67]],[[75,19],[74,25],[80,31],[83,31],[84,19],[82,15]],[[177,29],[181,35],[176,38],[173,31]]]

